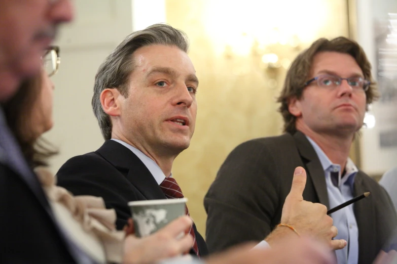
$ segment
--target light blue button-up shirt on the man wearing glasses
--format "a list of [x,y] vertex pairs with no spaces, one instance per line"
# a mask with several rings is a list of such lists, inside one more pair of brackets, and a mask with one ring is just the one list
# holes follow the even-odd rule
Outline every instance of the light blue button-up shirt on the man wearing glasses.
[[[307,137],[307,136],[306,136]],[[346,173],[341,177],[341,166],[334,164],[321,150],[321,148],[309,137],[307,137],[324,170],[326,177],[328,199],[330,200],[330,209],[353,198],[354,178],[358,171],[353,161],[348,158],[346,163]],[[331,172],[339,172],[338,186],[334,186],[331,181]],[[338,228],[338,235],[335,239],[344,239],[347,246],[343,249],[336,250],[338,264],[357,264],[358,263],[358,228],[354,216],[354,204],[346,206],[339,211],[331,214],[334,219],[334,226]]]

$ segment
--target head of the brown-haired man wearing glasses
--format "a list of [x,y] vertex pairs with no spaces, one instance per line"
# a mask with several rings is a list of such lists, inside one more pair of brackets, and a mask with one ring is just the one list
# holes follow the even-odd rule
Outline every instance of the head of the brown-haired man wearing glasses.
[[[367,87],[360,85],[365,80],[370,81]],[[377,96],[371,64],[363,49],[345,37],[320,38],[287,71],[278,98],[284,131],[357,131],[368,105]]]

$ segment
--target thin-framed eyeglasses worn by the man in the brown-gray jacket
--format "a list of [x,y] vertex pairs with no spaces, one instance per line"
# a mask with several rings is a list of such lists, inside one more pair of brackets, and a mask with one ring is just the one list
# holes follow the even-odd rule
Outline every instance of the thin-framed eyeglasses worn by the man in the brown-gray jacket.
[[366,80],[362,77],[342,78],[335,75],[322,74],[322,75],[318,75],[317,77],[314,77],[313,79],[306,81],[304,87],[306,87],[313,81],[317,81],[317,85],[320,87],[335,88],[341,85],[342,80],[346,80],[347,84],[349,84],[350,87],[352,87],[352,89],[356,91],[367,91],[371,84],[369,80]]

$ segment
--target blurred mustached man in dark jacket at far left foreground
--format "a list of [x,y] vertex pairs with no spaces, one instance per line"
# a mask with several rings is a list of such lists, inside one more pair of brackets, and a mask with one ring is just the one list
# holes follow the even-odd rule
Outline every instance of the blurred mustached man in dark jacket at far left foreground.
[[[41,67],[58,25],[73,18],[69,0],[0,0],[0,103]],[[26,163],[0,108],[0,262],[85,260],[54,219],[37,176]],[[89,262],[88,262],[89,263]]]

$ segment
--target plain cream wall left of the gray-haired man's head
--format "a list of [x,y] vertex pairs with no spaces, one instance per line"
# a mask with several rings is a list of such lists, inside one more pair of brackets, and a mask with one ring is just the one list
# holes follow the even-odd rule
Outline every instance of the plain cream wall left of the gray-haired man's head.
[[59,32],[61,63],[51,78],[55,125],[45,137],[60,150],[51,159],[54,173],[69,158],[103,144],[91,108],[94,77],[106,56],[132,31],[131,0],[75,2],[77,17]]

